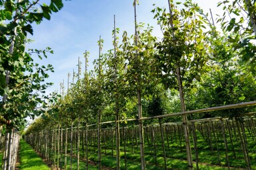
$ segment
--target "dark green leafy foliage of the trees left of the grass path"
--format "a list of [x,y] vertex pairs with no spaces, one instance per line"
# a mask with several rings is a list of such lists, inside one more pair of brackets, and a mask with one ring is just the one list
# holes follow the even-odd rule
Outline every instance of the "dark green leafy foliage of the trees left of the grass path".
[[0,1],[0,116],[15,128],[24,128],[26,117],[39,116],[47,108],[49,98],[42,94],[52,85],[44,81],[53,66],[37,64],[33,58],[47,58],[53,50],[27,50],[25,44],[31,42],[26,38],[33,34],[31,24],[50,20],[63,7],[61,0],[49,3]]

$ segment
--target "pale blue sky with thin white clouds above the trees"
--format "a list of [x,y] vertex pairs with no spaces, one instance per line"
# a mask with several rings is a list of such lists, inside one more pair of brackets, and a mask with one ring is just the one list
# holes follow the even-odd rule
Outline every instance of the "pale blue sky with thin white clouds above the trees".
[[[47,3],[47,1],[42,2]],[[41,2],[39,1],[39,2]],[[36,60],[39,64],[52,64],[55,73],[50,73],[48,82],[53,82],[53,87],[47,90],[51,93],[60,89],[63,82],[67,87],[67,75],[74,69],[77,72],[78,57],[82,60],[84,67],[83,53],[90,52],[89,69],[93,68],[92,62],[98,58],[97,41],[99,36],[104,39],[103,52],[112,49],[112,29],[114,27],[114,15],[116,15],[116,27],[120,28],[120,37],[126,30],[128,34],[134,34],[134,9],[133,0],[72,0],[63,1],[64,7],[59,13],[54,13],[51,21],[43,21],[39,25],[33,25],[33,36],[29,36],[33,43],[27,44],[27,48],[45,49],[51,47],[54,54],[49,54],[47,59]],[[217,2],[195,1],[209,12],[211,8],[213,16],[217,11]],[[154,7],[168,7],[167,0],[140,0],[137,7],[138,22],[145,22],[154,26],[154,35],[161,37],[162,32],[153,19],[150,12]]]

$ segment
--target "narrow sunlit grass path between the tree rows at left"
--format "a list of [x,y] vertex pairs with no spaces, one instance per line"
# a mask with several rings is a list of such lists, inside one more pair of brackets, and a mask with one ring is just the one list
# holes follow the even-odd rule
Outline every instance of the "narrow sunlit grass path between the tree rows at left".
[[43,160],[37,153],[27,144],[24,140],[20,142],[19,165],[20,170],[49,170],[50,168],[45,165]]

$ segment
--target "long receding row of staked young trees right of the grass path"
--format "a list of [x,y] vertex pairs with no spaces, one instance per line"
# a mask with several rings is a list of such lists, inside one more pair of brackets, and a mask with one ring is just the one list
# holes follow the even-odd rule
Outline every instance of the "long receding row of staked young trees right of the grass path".
[[[47,113],[27,129],[27,134],[53,125],[86,126],[100,122],[116,122],[116,157],[119,150],[119,122],[130,118],[185,112],[198,108],[254,101],[255,94],[255,1],[221,1],[217,5],[223,15],[208,15],[196,3],[168,1],[168,9],[154,5],[152,13],[162,30],[162,39],[152,34],[152,26],[136,21],[135,33],[122,33],[114,21],[113,49],[102,54],[104,41],[98,40],[99,55],[94,70],[87,71],[88,52],[84,53],[85,73],[78,59],[78,73],[68,74],[67,89],[61,85],[60,97],[47,108]],[[254,108],[235,108],[189,119],[212,116],[233,117]],[[152,120],[151,123],[154,123]],[[172,117],[182,121],[192,167],[187,116]],[[143,123],[138,122],[142,169]],[[100,143],[98,143],[100,145]],[[100,155],[100,146],[98,146]],[[117,161],[118,162],[118,161]],[[100,169],[100,156],[98,159]],[[117,165],[117,168],[120,165]]]

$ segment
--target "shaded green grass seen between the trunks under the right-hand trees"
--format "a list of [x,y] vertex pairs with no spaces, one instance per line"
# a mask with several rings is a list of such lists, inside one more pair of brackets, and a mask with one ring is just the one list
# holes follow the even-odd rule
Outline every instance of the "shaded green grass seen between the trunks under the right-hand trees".
[[[206,128],[205,128],[206,127]],[[203,129],[207,129],[207,126],[203,125]],[[159,130],[158,130],[159,131]],[[225,144],[223,141],[222,131],[211,130],[209,134],[202,133],[200,130],[195,131],[197,135],[197,151],[199,157],[199,169],[204,170],[226,170],[228,169],[227,159],[225,154],[227,153],[229,159],[229,165],[232,170],[235,169],[245,169],[245,161],[243,157],[243,151],[241,149],[240,138],[235,132],[232,130],[230,133],[227,129],[225,129],[225,136],[227,142],[227,151],[225,150]],[[96,133],[95,133],[96,134]],[[245,136],[247,138],[247,149],[249,152],[249,158],[251,161],[251,169],[256,169],[256,142],[255,142],[255,134],[249,134],[249,129],[245,128]],[[121,135],[122,136],[122,135]],[[191,136],[192,137],[192,136]],[[211,138],[210,138],[211,137]],[[147,140],[148,138],[148,140]],[[166,147],[166,161],[168,169],[187,169],[187,155],[186,155],[186,147],[184,142],[183,134],[179,134],[178,131],[170,131],[165,132],[164,134],[164,143]],[[231,138],[233,139],[231,141]],[[89,165],[89,169],[97,169],[97,161],[98,161],[98,149],[97,149],[97,139],[92,136],[92,133],[88,136],[88,139],[92,141],[88,141],[88,159],[93,161],[92,165]],[[149,133],[148,136],[144,134],[144,153],[145,153],[145,161],[146,161],[146,169],[149,170],[163,170],[164,169],[164,154],[162,151],[162,140],[159,132],[155,134],[155,146],[154,142],[152,144],[152,135]],[[181,140],[180,140],[181,139]],[[211,139],[211,140],[209,140]],[[75,140],[75,139],[74,139]],[[134,142],[136,140],[136,142]],[[80,139],[80,142],[82,140]],[[112,144],[113,142],[113,144]],[[83,143],[84,144],[84,143]],[[112,169],[116,168],[116,151],[115,151],[115,139],[113,136],[108,136],[108,134],[104,134],[102,136],[102,159],[101,163],[105,167],[110,167]],[[192,147],[192,158],[193,158],[193,167],[195,168],[195,150],[193,146],[193,140],[191,138],[191,147]],[[42,148],[44,148],[42,146]],[[85,148],[85,147],[84,147]],[[80,144],[80,159],[82,159],[82,144]],[[44,149],[42,149],[44,152]],[[47,149],[49,151],[49,149]],[[57,151],[57,150],[56,150]],[[155,153],[156,151],[156,159]],[[55,150],[52,150],[50,153],[52,159]],[[68,153],[70,153],[70,144],[68,144]],[[72,169],[76,169],[76,142],[73,141],[73,159],[72,159]],[[85,151],[84,151],[85,154]],[[124,169],[125,161],[124,161],[124,142],[123,138],[120,138],[120,165],[121,169]],[[126,136],[126,158],[127,158],[127,169],[140,169],[140,146],[138,141],[138,136],[131,138],[131,134],[127,133]],[[64,159],[64,153],[63,153]],[[57,159],[56,159],[57,160]],[[55,161],[56,161],[55,160]],[[62,167],[64,163],[61,163]],[[67,167],[70,168],[70,155],[68,154],[67,159]],[[80,169],[85,168],[85,162],[80,161]]]

